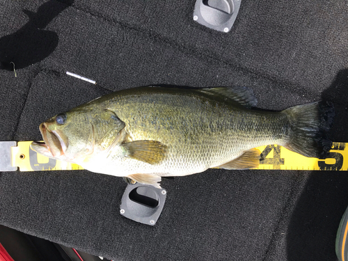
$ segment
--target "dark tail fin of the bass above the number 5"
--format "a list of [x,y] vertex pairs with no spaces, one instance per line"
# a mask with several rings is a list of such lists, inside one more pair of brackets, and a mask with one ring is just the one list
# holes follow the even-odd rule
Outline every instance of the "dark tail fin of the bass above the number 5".
[[290,137],[285,148],[306,157],[320,157],[331,149],[327,133],[335,112],[330,102],[313,102],[285,109],[290,118]]

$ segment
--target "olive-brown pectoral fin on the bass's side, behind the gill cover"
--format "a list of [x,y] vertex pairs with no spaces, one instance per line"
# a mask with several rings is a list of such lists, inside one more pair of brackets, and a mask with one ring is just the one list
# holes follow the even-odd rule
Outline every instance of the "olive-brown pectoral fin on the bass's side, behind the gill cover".
[[128,150],[127,157],[148,164],[159,164],[166,157],[167,146],[159,141],[132,141],[122,146]]

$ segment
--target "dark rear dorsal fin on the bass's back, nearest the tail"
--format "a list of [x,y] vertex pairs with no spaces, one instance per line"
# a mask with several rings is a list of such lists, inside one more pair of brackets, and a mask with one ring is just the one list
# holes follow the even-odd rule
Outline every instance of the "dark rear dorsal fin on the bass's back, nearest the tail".
[[258,104],[253,90],[246,87],[232,86],[232,87],[212,87],[201,89],[207,93],[221,95],[230,100],[234,100],[247,108],[255,107]]

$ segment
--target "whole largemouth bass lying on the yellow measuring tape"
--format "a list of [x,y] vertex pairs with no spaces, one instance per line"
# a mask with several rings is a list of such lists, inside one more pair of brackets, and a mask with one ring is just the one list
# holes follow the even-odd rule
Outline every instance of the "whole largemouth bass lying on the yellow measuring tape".
[[166,176],[255,168],[260,145],[283,145],[307,157],[331,147],[328,104],[260,111],[252,109],[256,103],[253,92],[240,87],[120,90],[42,122],[45,144],[31,148],[159,187]]

